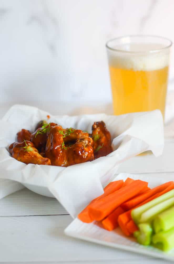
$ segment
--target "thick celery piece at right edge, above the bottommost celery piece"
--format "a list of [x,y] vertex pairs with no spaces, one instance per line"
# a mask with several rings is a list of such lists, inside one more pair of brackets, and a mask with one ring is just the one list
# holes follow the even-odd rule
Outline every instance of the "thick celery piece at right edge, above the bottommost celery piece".
[[155,233],[167,231],[174,227],[174,206],[158,214],[153,221]]

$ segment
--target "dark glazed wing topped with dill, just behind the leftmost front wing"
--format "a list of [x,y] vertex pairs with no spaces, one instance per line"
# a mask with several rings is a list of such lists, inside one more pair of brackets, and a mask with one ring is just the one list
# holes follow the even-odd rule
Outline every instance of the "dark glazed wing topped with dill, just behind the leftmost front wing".
[[41,128],[38,128],[32,135],[31,135],[31,142],[34,146],[39,150],[39,152],[44,153],[45,146],[47,143],[47,132],[49,132],[52,126],[55,126],[55,123],[49,123],[42,125]]

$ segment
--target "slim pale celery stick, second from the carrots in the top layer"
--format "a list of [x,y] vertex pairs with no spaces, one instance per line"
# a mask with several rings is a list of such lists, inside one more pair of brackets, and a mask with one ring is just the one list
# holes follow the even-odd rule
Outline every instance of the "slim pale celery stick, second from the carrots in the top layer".
[[146,223],[147,221],[153,220],[156,215],[170,208],[172,205],[174,205],[174,197],[156,204],[155,206],[151,207],[149,210],[141,214],[139,223]]

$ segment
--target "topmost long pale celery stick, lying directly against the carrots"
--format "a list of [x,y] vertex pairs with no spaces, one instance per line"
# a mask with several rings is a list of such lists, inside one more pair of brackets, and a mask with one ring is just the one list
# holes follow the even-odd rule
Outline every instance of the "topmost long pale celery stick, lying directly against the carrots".
[[156,204],[159,204],[160,202],[170,199],[171,197],[174,197],[174,189],[132,210],[131,211],[132,219],[134,220],[136,224],[138,224],[142,213],[144,213],[146,210],[148,210],[152,206],[155,206]]

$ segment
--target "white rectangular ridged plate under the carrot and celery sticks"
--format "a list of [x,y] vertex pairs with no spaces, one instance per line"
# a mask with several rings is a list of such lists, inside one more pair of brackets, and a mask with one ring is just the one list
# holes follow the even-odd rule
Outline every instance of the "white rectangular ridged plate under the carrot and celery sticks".
[[[115,180],[123,179],[127,177],[134,179],[146,180],[149,182],[151,188],[160,185],[164,182],[174,180],[173,176],[153,178],[151,175],[141,176],[141,175],[129,175],[127,173],[121,173],[117,176]],[[140,254],[145,254],[148,256],[153,256],[157,258],[164,258],[174,262],[174,250],[164,253],[161,250],[151,247],[151,246],[142,246],[138,244],[134,237],[126,237],[120,228],[116,228],[113,231],[107,231],[103,228],[100,228],[95,222],[86,224],[81,222],[79,219],[75,219],[66,229],[65,234],[71,237],[79,238],[82,240],[90,241],[93,243],[98,243],[101,245],[115,247],[124,249],[131,252],[136,252]]]

